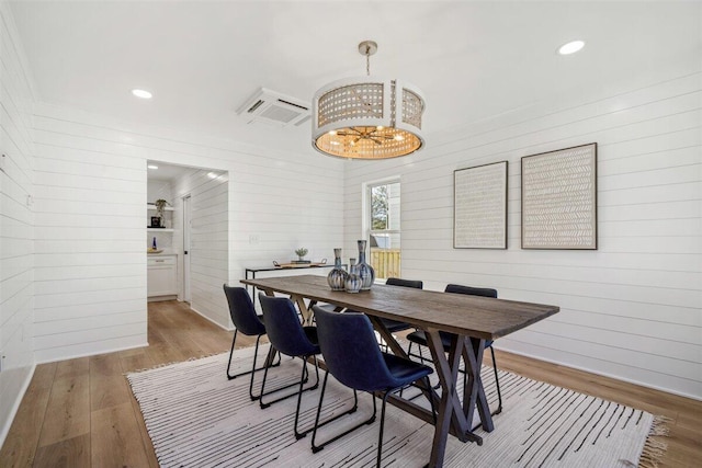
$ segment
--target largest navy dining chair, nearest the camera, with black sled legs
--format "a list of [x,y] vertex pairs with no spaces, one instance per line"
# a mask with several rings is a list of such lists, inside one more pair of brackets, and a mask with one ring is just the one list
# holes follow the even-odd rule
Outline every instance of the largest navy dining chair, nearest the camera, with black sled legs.
[[[381,352],[371,320],[364,313],[330,312],[317,306],[314,306],[313,310],[317,320],[319,347],[327,366],[327,373],[321,385],[319,407],[317,408],[317,418],[312,437],[312,449],[317,453],[326,445],[364,424],[371,424],[375,421],[376,403],[374,393],[378,392],[383,396],[376,458],[376,466],[380,467],[383,454],[385,407],[388,397],[417,380],[423,380],[424,389],[430,389],[429,375],[433,369],[423,364]],[[316,445],[319,414],[321,413],[329,374],[349,388],[370,392],[373,396],[373,414],[369,420],[335,435],[324,444]],[[433,399],[430,397],[429,401],[435,421]]]

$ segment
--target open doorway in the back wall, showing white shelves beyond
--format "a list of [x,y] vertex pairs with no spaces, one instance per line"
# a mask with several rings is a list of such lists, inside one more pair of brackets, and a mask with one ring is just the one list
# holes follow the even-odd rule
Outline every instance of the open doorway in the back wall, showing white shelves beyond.
[[[165,199],[170,210],[165,226],[147,228],[147,248],[156,237],[160,251],[148,253],[147,263],[155,262],[155,255],[170,259],[160,264],[172,262],[177,293],[154,297],[147,288],[148,300],[188,303],[192,310],[226,328],[229,316],[222,285],[229,277],[228,172],[152,160],[147,165],[149,206]],[[218,296],[222,301],[213,300]]]

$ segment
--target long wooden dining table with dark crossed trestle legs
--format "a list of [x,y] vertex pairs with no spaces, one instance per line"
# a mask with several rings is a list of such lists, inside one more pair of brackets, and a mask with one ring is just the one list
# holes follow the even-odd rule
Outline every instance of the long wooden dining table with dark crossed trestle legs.
[[[392,396],[390,404],[434,424],[430,467],[443,466],[449,435],[461,442],[483,445],[483,437],[475,433],[473,419],[477,411],[480,426],[487,433],[495,424],[480,379],[480,366],[485,343],[508,335],[557,313],[557,306],[517,300],[442,293],[429,289],[374,284],[370,290],[351,294],[331,290],[327,278],[316,275],[280,276],[260,279],[241,279],[267,295],[287,295],[303,316],[313,321],[312,306],[328,304],[339,312],[364,312],[383,341],[398,356],[407,357],[397,339],[387,331],[381,318],[393,319],[422,330],[427,335],[433,367],[439,377],[440,392],[434,387],[419,384],[422,392],[433,399],[437,413],[414,400]],[[451,338],[449,352],[444,351],[440,332]],[[463,359],[465,385],[458,391],[458,370]],[[507,409],[506,409],[507,411]]]

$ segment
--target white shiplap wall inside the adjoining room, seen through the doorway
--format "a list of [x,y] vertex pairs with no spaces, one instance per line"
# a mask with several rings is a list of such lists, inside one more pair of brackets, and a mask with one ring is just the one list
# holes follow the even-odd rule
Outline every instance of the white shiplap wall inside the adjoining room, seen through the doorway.
[[[216,175],[211,178],[208,174]],[[228,174],[210,170],[193,171],[173,181],[174,250],[179,278],[183,277],[183,197],[190,195],[191,239],[190,307],[223,328],[231,327],[222,285],[229,279]],[[181,285],[182,288],[182,285]],[[182,296],[182,294],[180,295]]]

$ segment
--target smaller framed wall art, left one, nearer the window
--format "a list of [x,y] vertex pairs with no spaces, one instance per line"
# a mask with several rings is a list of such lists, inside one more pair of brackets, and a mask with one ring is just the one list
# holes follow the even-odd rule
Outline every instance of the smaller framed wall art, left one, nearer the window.
[[453,172],[454,249],[507,249],[507,164]]

